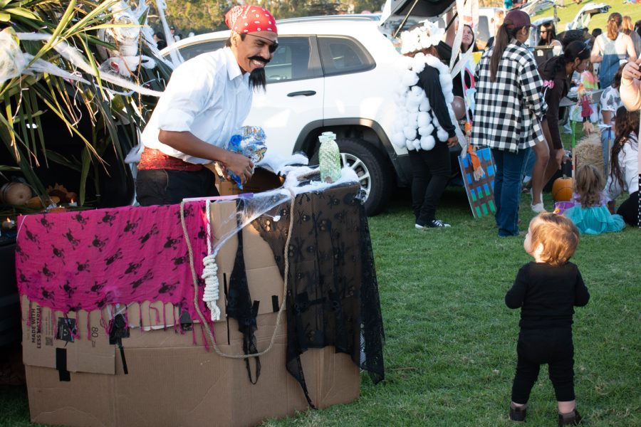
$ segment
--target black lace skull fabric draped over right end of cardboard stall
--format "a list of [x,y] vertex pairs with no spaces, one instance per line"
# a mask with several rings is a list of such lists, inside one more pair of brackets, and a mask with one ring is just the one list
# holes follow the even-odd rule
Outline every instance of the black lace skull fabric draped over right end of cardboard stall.
[[[374,383],[385,376],[378,285],[359,191],[353,184],[296,196],[288,248],[286,368],[312,407],[300,360],[309,348],[334,346],[350,354]],[[290,203],[266,214],[252,225],[271,246],[283,275]]]

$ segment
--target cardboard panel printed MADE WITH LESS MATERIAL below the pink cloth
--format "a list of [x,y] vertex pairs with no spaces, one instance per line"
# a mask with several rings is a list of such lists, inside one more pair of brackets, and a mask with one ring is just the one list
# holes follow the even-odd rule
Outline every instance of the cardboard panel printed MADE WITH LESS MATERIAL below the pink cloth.
[[[34,367],[60,367],[70,372],[115,372],[115,349],[109,344],[105,328],[100,324],[100,311],[90,315],[90,339],[87,339],[87,312],[69,312],[67,319],[77,322],[78,338],[74,338],[64,327],[65,317],[61,312],[51,315],[51,310],[35,302],[29,305],[26,297],[22,304],[22,347],[23,362]],[[29,322],[26,322],[29,319]]]

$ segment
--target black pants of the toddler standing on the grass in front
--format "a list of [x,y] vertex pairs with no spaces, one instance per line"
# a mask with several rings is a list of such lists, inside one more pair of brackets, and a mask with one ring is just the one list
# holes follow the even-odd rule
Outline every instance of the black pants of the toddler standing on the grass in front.
[[546,330],[521,330],[516,344],[518,362],[512,384],[512,401],[526,404],[530,391],[538,379],[542,364],[548,371],[556,400],[573,401],[574,345],[570,327]]

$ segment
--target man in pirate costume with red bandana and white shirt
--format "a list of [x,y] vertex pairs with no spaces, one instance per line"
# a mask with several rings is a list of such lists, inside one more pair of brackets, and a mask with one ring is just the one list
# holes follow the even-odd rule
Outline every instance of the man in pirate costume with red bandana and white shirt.
[[278,47],[276,20],[260,6],[234,6],[225,23],[226,46],[174,70],[142,132],[136,179],[142,206],[217,196],[214,174],[203,166],[211,162],[243,182],[251,178],[251,160],[224,147],[249,114],[253,91],[266,86],[264,67]]

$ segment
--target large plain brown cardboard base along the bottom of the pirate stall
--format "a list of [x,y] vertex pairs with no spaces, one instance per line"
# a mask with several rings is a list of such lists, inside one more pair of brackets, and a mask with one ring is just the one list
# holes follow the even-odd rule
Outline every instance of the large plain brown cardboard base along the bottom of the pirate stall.
[[[259,316],[263,323],[275,319]],[[264,325],[259,331],[258,348],[263,350],[273,327]],[[241,354],[242,343],[221,344],[220,349]],[[261,356],[257,384],[250,383],[244,359],[194,346],[126,348],[127,375],[120,358],[115,375],[72,373],[68,382],[59,381],[55,369],[27,367],[31,419],[83,427],[254,426],[308,408],[301,386],[285,369],[285,354],[286,334],[279,330],[271,350]],[[358,398],[359,371],[347,354],[337,354],[333,347],[310,349],[302,363],[318,407]],[[250,365],[255,378],[254,359]]]

